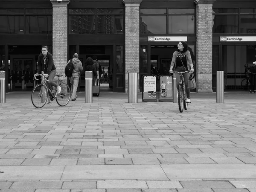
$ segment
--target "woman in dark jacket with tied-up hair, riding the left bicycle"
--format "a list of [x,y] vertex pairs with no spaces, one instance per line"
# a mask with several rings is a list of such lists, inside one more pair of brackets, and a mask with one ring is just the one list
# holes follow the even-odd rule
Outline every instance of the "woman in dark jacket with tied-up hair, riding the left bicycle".
[[[48,88],[50,89],[51,86],[54,86],[57,89],[57,94],[61,93],[61,87],[53,82],[53,78],[56,75],[56,67],[53,63],[52,54],[48,52],[47,46],[42,47],[41,53],[38,56],[38,73],[47,74],[46,78],[48,79],[48,81],[46,81],[46,84]],[[51,94],[49,93],[49,95]],[[48,103],[50,102],[51,99],[49,97]]]

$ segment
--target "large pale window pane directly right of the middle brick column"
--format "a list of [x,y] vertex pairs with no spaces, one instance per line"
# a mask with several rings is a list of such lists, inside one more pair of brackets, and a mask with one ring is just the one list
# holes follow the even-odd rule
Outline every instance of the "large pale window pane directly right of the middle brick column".
[[141,15],[140,33],[166,34],[166,16]]

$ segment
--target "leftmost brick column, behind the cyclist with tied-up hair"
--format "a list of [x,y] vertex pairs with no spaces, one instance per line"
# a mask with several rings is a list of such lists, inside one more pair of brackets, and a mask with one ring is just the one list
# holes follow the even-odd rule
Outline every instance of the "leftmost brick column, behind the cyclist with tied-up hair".
[[[50,0],[52,3],[52,56],[57,74],[64,74],[67,64],[67,5],[70,0]],[[62,76],[67,81],[65,76]]]

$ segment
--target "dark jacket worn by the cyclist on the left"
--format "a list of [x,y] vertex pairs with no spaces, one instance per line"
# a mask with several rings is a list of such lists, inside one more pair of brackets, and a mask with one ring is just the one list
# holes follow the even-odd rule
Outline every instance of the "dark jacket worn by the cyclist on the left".
[[41,71],[44,71],[44,73],[47,73],[49,75],[51,71],[55,69],[56,67],[53,64],[52,54],[47,52],[46,60],[44,63],[44,55],[41,52],[40,55],[38,56],[38,73],[41,73]]

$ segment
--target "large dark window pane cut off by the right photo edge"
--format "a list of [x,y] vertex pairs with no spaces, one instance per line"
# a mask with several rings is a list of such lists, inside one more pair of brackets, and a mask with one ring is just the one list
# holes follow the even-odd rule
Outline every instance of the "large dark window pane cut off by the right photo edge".
[[255,33],[256,15],[240,15],[240,33]]

